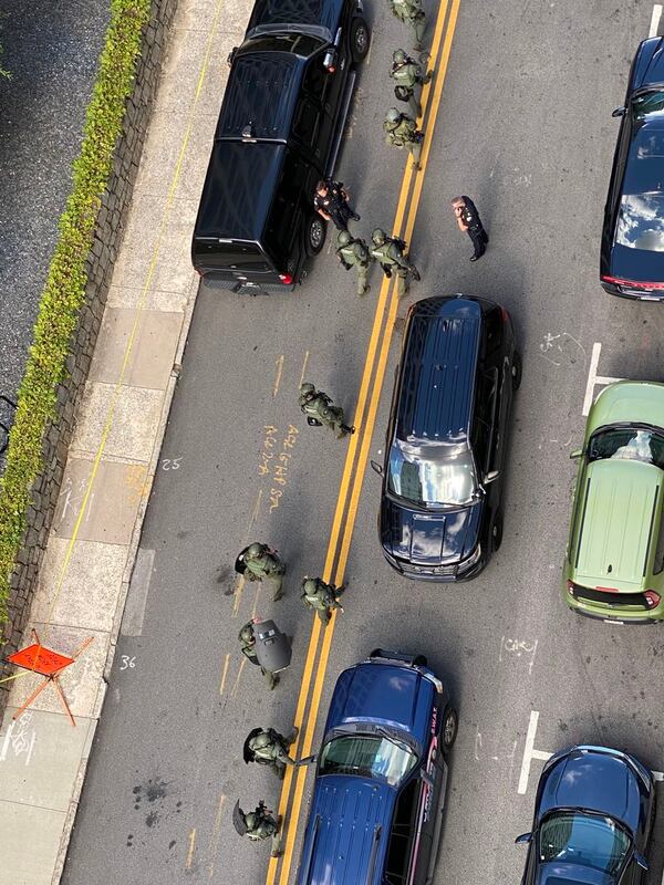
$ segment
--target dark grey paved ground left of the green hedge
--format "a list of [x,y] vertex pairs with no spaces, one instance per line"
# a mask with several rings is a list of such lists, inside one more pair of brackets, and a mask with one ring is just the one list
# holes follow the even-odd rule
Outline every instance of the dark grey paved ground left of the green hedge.
[[0,10],[0,393],[25,366],[58,219],[108,24],[100,0],[3,0]]

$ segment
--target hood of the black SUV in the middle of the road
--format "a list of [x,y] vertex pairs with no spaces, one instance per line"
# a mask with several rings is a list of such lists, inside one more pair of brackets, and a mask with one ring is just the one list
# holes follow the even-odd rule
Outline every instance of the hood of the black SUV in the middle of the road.
[[422,512],[387,496],[381,504],[383,546],[415,565],[454,564],[477,545],[481,501],[458,510]]

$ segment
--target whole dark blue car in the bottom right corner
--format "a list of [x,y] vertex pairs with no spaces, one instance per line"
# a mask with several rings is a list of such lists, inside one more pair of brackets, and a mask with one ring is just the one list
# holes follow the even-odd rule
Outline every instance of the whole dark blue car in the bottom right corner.
[[655,816],[652,773],[606,747],[572,747],[542,771],[522,885],[637,885]]

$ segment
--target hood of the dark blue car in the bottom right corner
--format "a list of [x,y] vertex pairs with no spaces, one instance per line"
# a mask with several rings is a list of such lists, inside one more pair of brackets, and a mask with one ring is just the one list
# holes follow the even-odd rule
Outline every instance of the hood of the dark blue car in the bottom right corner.
[[608,814],[639,829],[640,781],[618,753],[572,750],[553,762],[540,781],[538,818],[560,808]]

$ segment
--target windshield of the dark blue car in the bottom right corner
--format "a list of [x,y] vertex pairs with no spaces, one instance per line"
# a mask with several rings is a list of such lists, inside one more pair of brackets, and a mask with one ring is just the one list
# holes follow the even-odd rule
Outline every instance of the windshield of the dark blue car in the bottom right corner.
[[561,811],[547,818],[539,834],[540,861],[589,866],[615,876],[631,848],[630,836],[611,818]]

